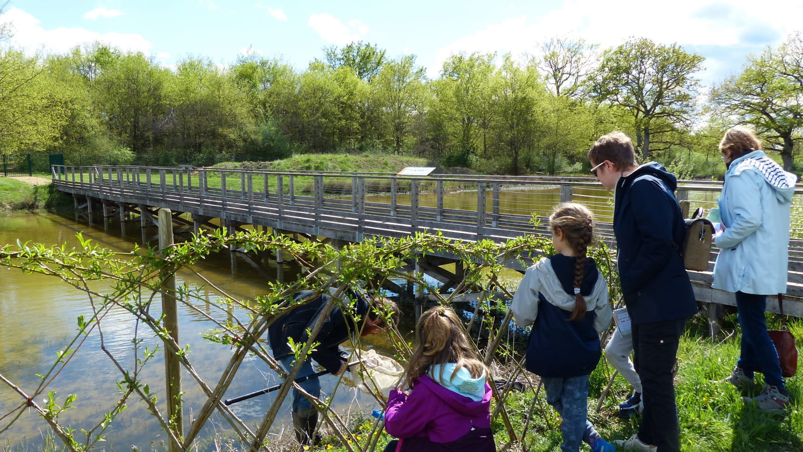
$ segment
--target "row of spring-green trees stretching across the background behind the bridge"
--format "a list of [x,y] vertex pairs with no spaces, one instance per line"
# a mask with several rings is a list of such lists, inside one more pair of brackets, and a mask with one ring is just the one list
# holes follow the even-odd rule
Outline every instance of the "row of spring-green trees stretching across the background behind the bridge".
[[[8,40],[0,31],[0,39]],[[573,169],[601,134],[634,137],[642,160],[718,156],[735,123],[793,168],[803,125],[803,36],[750,55],[703,87],[704,59],[677,44],[630,38],[600,49],[555,38],[523,62],[451,55],[434,80],[415,55],[372,43],[325,47],[308,68],[240,55],[229,67],[186,57],[174,68],[103,43],[62,55],[0,52],[4,153],[67,162],[210,165],[299,153],[413,154],[491,174]]]

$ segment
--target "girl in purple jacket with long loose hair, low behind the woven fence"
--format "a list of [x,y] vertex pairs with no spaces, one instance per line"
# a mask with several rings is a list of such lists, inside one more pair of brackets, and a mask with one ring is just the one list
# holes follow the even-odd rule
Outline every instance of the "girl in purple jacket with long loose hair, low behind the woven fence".
[[[454,310],[435,306],[416,326],[418,347],[406,380],[390,392],[386,452],[495,452],[491,386]],[[402,390],[402,385],[407,390]]]

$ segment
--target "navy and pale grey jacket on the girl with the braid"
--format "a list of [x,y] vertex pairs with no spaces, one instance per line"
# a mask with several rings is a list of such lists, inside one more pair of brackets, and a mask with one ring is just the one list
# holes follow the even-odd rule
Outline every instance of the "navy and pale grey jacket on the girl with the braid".
[[532,323],[526,368],[544,377],[589,375],[601,356],[598,333],[610,325],[608,284],[592,258],[585,261],[580,294],[585,318],[567,321],[574,310],[575,257],[556,254],[532,265],[513,295],[511,310],[516,324]]

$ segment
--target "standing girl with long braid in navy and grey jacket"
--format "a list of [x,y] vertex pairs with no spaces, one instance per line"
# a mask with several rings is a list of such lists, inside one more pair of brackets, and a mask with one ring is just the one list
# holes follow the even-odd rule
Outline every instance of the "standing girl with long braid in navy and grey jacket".
[[528,371],[540,376],[547,401],[563,418],[562,452],[586,442],[593,452],[613,452],[589,422],[589,375],[602,354],[599,333],[613,316],[608,284],[593,258],[593,214],[577,203],[561,203],[549,217],[555,254],[532,265],[513,296],[520,327],[532,325]]

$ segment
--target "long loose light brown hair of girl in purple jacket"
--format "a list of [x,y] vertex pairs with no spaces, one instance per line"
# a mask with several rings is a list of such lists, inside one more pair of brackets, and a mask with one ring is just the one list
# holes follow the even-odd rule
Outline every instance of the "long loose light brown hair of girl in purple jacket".
[[[412,388],[413,380],[424,375],[433,364],[457,364],[450,380],[462,367],[467,368],[473,378],[483,375],[485,364],[477,359],[474,347],[471,347],[463,332],[460,318],[451,308],[434,306],[426,310],[418,319],[415,335],[418,347],[410,356],[410,363],[405,369],[407,387]],[[442,367],[440,380],[443,381]]]

